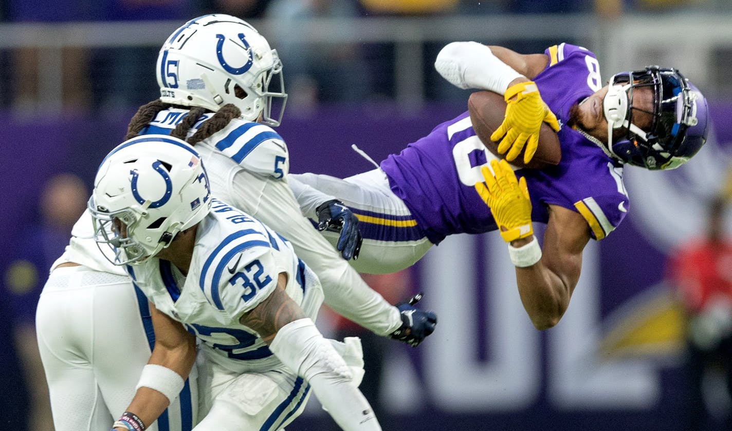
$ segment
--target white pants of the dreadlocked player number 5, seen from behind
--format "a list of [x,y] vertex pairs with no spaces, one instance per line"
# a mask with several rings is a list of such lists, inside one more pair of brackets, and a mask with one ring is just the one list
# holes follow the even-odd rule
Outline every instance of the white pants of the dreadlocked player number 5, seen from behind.
[[[81,266],[53,270],[36,328],[56,431],[109,430],[130,404],[150,357],[146,308],[127,277]],[[193,427],[198,399],[190,386],[148,430]]]

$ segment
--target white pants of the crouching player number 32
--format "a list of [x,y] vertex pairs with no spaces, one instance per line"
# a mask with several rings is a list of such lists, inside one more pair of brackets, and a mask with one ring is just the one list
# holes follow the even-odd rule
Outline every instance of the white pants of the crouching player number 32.
[[310,397],[310,386],[284,367],[235,373],[204,359],[198,371],[202,419],[194,431],[282,430]]

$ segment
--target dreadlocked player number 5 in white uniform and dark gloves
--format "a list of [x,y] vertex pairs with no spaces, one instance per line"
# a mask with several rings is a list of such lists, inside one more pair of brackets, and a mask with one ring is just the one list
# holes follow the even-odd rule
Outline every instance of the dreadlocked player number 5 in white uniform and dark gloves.
[[[288,238],[321,279],[326,303],[378,335],[416,346],[433,331],[433,313],[409,303],[386,302],[299,211],[286,180],[287,147],[270,127],[280,122],[284,107],[281,104],[277,119],[272,118],[273,101],[286,99],[281,71],[276,51],[244,21],[229,15],[191,20],[160,50],[157,75],[162,97],[141,107],[130,122],[128,137],[163,133],[194,143],[209,166],[214,193]],[[269,91],[273,78],[280,83],[277,93]],[[346,259],[355,257],[360,243],[356,218],[335,199],[326,200],[318,211],[321,226],[341,229],[340,251]],[[108,263],[91,236],[86,213],[75,225],[66,252],[53,264],[37,310],[37,333],[57,430],[97,430],[97,424],[118,417],[135,392],[125,376],[139,375],[153,343],[146,300],[132,290],[119,268]],[[86,291],[90,299],[78,301],[77,291]],[[76,318],[59,322],[58,308],[75,310]],[[98,321],[82,316],[97,316]],[[76,350],[86,351],[70,351],[66,340],[79,338]],[[83,348],[78,347],[81,344]],[[130,346],[135,354],[122,363],[114,363],[112,357],[108,364],[101,352],[120,345]],[[92,346],[96,346],[93,355]],[[89,383],[68,383],[80,375]],[[111,385],[111,381],[128,386],[123,391],[122,385]],[[160,431],[185,431],[195,424],[196,397],[185,392],[194,389],[187,385],[171,404],[177,410],[169,418],[160,416]]]

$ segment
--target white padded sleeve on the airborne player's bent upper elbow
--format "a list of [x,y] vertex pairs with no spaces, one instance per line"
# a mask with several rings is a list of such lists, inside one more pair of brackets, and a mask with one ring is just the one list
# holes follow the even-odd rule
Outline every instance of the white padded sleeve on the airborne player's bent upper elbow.
[[435,69],[458,88],[477,88],[505,94],[509,83],[523,77],[478,42],[450,42],[440,50]]

